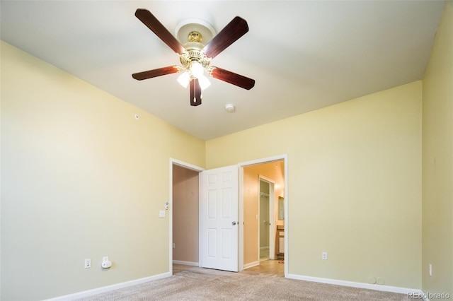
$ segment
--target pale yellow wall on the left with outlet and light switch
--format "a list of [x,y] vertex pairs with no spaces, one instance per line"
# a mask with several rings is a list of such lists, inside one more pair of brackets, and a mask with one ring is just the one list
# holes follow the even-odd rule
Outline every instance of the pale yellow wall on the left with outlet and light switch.
[[205,142],[1,42],[1,300],[168,272],[170,158]]

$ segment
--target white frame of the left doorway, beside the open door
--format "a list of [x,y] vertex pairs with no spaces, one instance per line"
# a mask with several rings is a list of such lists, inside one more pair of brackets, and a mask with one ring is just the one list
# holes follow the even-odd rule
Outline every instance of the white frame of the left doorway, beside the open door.
[[[196,172],[202,172],[203,170],[205,170],[204,168],[202,167],[198,167],[196,165],[192,165],[192,164],[189,164],[189,163],[185,163],[183,161],[180,161],[180,160],[176,160],[176,159],[173,159],[173,158],[170,158],[170,192],[168,194],[168,226],[169,226],[169,233],[168,233],[168,249],[169,249],[169,254],[168,254],[168,271],[170,271],[170,275],[173,275],[173,165],[179,165],[181,167],[185,167],[185,168],[188,168],[189,170],[195,170]],[[198,186],[199,186],[199,189],[198,191],[200,191],[201,193],[201,190],[200,190],[200,184],[201,184],[201,181],[198,181]],[[198,197],[198,202],[200,203],[201,201],[201,196],[200,196],[200,193],[199,193],[199,197]],[[199,204],[200,206],[200,204]],[[198,214],[198,223],[200,223],[200,213]],[[199,230],[200,231],[200,230]],[[200,237],[200,232],[198,233],[198,237]],[[199,250],[198,250],[198,266],[200,266],[200,246],[198,247]]]

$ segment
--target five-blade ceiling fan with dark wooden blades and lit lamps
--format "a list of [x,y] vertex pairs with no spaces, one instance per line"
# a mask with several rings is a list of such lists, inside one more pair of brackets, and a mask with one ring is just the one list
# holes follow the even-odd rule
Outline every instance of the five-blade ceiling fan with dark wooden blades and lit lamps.
[[178,82],[185,87],[190,83],[190,105],[193,106],[201,105],[201,91],[205,86],[210,85],[204,75],[205,71],[213,78],[237,85],[246,90],[250,90],[255,85],[255,80],[251,78],[216,66],[210,66],[211,59],[248,32],[247,22],[243,18],[235,17],[207,45],[202,44],[202,35],[197,31],[190,32],[188,42],[181,45],[176,40],[176,37],[171,35],[164,25],[147,9],[138,8],[135,11],[135,16],[144,25],[147,25],[168,47],[179,54],[180,63],[182,64],[182,66],[167,66],[132,74],[132,77],[138,81],[183,72],[179,76]]

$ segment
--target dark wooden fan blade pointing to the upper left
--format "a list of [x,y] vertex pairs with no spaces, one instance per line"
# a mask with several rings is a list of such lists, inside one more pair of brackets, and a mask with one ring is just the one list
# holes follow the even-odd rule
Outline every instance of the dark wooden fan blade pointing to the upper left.
[[176,37],[173,37],[150,11],[144,8],[138,8],[137,11],[135,11],[135,16],[141,20],[144,25],[147,25],[147,28],[155,33],[166,45],[168,45],[168,47],[173,49],[174,52],[178,54],[183,54],[185,52],[183,45],[176,40]]

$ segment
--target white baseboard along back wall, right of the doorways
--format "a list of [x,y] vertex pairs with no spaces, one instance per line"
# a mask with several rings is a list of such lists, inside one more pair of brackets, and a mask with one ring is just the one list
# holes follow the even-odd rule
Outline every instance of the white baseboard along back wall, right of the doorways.
[[361,283],[361,282],[354,282],[354,281],[343,281],[343,280],[336,280],[330,278],[319,278],[319,277],[311,277],[311,276],[300,276],[294,274],[288,274],[287,278],[303,280],[303,281],[311,281],[311,282],[319,282],[319,283],[327,283],[327,284],[334,284],[334,285],[343,285],[343,286],[350,286],[352,288],[365,288],[368,290],[380,290],[382,292],[389,292],[389,293],[398,293],[398,294],[408,294],[408,293],[421,293],[421,290],[416,290],[413,288],[398,288],[396,286],[389,286],[389,285],[375,285],[369,283]]

